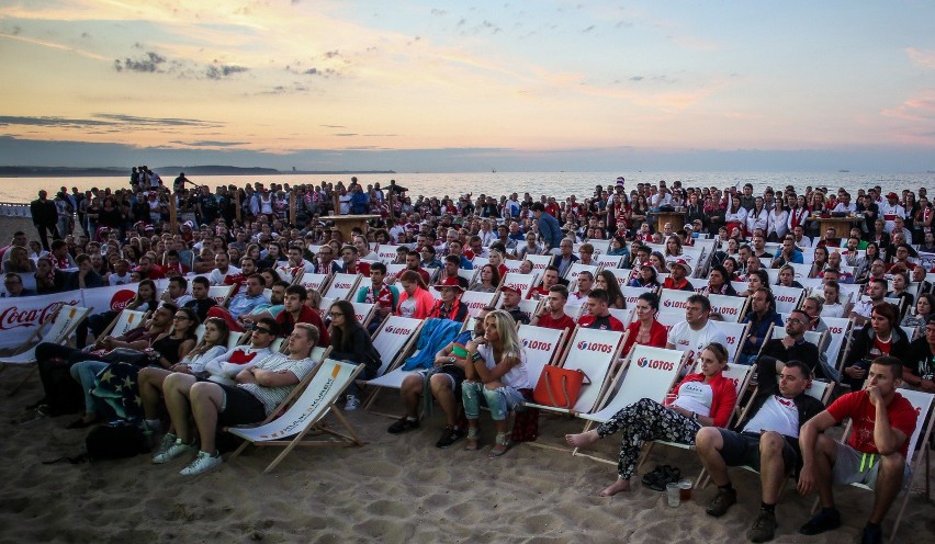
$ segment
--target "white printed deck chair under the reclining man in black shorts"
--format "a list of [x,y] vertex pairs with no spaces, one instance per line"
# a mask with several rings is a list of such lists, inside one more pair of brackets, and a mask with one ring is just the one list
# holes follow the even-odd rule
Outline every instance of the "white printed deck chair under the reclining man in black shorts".
[[[363,370],[363,365],[356,365],[326,359],[318,369],[306,376],[294,390],[301,392],[294,404],[285,412],[270,421],[267,418],[263,424],[252,428],[227,428],[226,431],[245,440],[232,455],[236,458],[250,444],[258,446],[284,446],[280,453],[263,471],[268,474],[277,467],[282,460],[295,446],[322,446],[322,445],[363,445],[363,440],[354,431],[353,427],[345,419],[341,410],[334,410],[335,403],[345,388]],[[347,434],[322,427],[319,423],[328,413],[334,413]],[[274,411],[273,413],[278,413]],[[274,417],[274,416],[272,416]],[[305,435],[312,429],[318,429],[337,440],[305,440]],[[292,437],[291,440],[284,440]]]

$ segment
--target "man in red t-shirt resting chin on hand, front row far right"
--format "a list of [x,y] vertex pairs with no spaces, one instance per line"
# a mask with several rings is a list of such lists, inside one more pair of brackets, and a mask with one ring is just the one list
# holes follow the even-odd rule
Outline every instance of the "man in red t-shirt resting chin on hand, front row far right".
[[[819,534],[841,526],[832,485],[860,483],[874,489],[874,508],[861,542],[883,541],[880,523],[909,474],[905,456],[916,423],[912,404],[895,392],[901,378],[899,359],[877,358],[870,364],[863,390],[838,397],[802,427],[799,492],[808,495],[816,490],[822,505],[821,511],[802,525],[802,534]],[[847,443],[823,433],[844,418],[850,418],[854,426]]]

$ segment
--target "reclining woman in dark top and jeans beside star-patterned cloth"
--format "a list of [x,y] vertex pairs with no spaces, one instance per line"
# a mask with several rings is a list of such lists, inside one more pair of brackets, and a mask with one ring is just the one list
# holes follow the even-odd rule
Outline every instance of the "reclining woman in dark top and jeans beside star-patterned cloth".
[[[195,344],[195,328],[198,328],[198,315],[191,308],[178,308],[164,305],[160,311],[173,311],[172,328],[162,332],[145,348],[143,353],[148,356],[149,365],[158,365],[170,369],[180,359],[185,356]],[[104,369],[108,372],[99,374]],[[108,404],[114,408],[117,417],[134,419],[138,417],[136,411],[137,375],[140,367],[127,362],[106,363],[103,361],[82,361],[69,369],[71,377],[81,384],[85,393],[85,413],[80,419],[68,426],[69,429],[88,427],[98,420],[97,399],[92,390],[101,393]]]

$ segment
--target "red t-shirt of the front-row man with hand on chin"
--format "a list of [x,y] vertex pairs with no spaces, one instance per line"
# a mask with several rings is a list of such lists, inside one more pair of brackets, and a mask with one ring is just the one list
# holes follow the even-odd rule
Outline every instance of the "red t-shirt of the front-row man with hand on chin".
[[[854,422],[847,444],[863,453],[880,453],[874,442],[874,424],[877,421],[877,408],[870,403],[867,392],[859,390],[842,395],[827,407],[827,412],[835,421],[849,417]],[[905,457],[909,450],[909,439],[915,431],[916,413],[912,404],[902,395],[895,393],[892,401],[887,406],[887,419],[890,427],[899,429],[905,434],[902,444],[902,455]]]

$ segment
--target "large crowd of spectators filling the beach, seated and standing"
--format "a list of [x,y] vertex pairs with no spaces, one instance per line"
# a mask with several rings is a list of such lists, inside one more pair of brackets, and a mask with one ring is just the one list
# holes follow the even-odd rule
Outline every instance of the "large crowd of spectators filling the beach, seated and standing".
[[[754,195],[748,184],[721,190],[662,181],[638,183],[628,192],[619,178],[582,202],[574,195],[534,200],[529,193],[413,201],[395,182],[384,191],[379,183],[364,188],[356,178],[347,186],[272,183],[267,189],[256,183],[212,192],[183,173],[170,190],[140,167],[131,181],[129,189],[85,194],[63,188],[52,207],[41,192],[33,202],[40,240],[18,231],[0,249],[3,295],[135,284],[137,294],[127,307],[146,311],[140,327],[106,336],[116,313],[102,313],[78,327],[76,348],[40,345],[45,397],[36,406],[48,415],[80,411],[70,428],[92,424],[109,409],[140,421],[150,433],[165,431],[153,461],[193,454],[182,474],[222,462],[215,444],[219,424],[255,423],[273,413],[313,372],[315,345],[363,365],[361,379],[376,377],[381,354],[371,335],[382,319],[395,315],[463,324],[470,316],[461,302],[467,291],[494,293],[502,303],[481,310],[473,327],[440,345],[430,370],[406,378],[401,388],[405,413],[388,432],[417,429],[419,399],[433,398],[446,419],[436,445],[465,439],[467,450],[477,450],[480,407],[485,405],[496,426],[489,455],[502,456],[510,445],[508,418],[523,410],[538,378],[528,372],[517,324],[568,332],[575,327],[626,331],[624,353],[634,344],[687,351],[692,364],[696,358],[699,362],[697,372],[684,375],[671,405],[643,399],[594,431],[568,435],[568,442],[584,447],[616,432],[623,435],[619,478],[604,495],[629,490],[644,441],[695,445],[718,485],[707,509],[714,517],[736,501],[725,467],[757,467],[763,503],[748,533],[754,542],[774,535],[775,506],[789,471],[800,474],[803,494],[819,491],[824,507],[802,526],[804,534],[841,524],[832,481],[876,481],[864,539],[879,542],[879,523],[903,480],[900,467],[915,424],[914,412],[908,415],[908,401],[894,389],[935,392],[935,296],[928,261],[920,258],[935,251],[933,208],[924,188],[917,194],[870,188],[852,195],[843,189],[798,193],[787,186]],[[69,220],[77,219],[77,236],[59,215],[53,222],[57,201],[70,203],[61,208]],[[290,202],[296,206],[294,224]],[[345,239],[328,220],[336,204],[341,214],[380,218]],[[684,212],[684,228],[656,228],[656,216],[673,211]],[[822,231],[821,216],[847,218],[854,228]],[[712,240],[712,249],[692,260],[687,248],[700,240]],[[394,248],[392,262],[378,254],[386,247]],[[617,268],[631,275],[621,281],[612,267],[597,261],[596,248],[605,247],[606,256],[619,258]],[[551,262],[537,270],[532,256],[551,256]],[[390,273],[387,264],[398,271]],[[510,271],[536,273],[537,283],[528,291],[505,285]],[[322,294],[297,284],[304,273],[361,274],[364,281],[349,297],[374,304],[376,317],[359,322],[343,299],[322,308]],[[168,287],[160,293],[154,281],[164,279]],[[232,287],[226,304],[207,296],[217,285]],[[621,286],[639,288],[632,308]],[[788,315],[776,309],[775,286],[802,292]],[[692,292],[684,320],[671,328],[657,319],[662,290]],[[856,298],[850,296],[855,292]],[[736,356],[713,325],[720,316],[712,311],[711,295],[748,299],[741,319],[748,333]],[[523,298],[538,301],[533,311],[520,307]],[[627,322],[613,315],[624,309],[632,310]],[[831,318],[848,318],[855,326],[841,361],[827,360],[826,344],[804,339],[808,331],[827,330]],[[239,344],[229,345],[232,336]],[[271,350],[277,337],[281,348]],[[143,356],[121,366],[110,355],[117,350]],[[733,424],[737,394],[721,376],[729,364],[755,365],[759,383],[754,408]],[[111,395],[122,400],[102,405],[91,392],[106,388],[113,375],[132,387]],[[813,379],[852,393],[825,409],[803,394]],[[361,398],[359,386],[351,385],[345,409],[358,408]],[[849,445],[822,434],[855,415],[861,417],[855,418]],[[879,456],[879,462],[867,469],[854,466],[853,458],[861,454]]]

